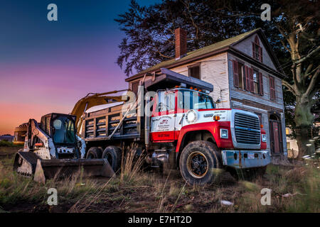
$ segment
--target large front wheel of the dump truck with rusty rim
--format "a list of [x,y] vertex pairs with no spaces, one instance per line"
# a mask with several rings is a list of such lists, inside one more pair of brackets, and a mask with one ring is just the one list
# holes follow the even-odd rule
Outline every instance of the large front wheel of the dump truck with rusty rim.
[[214,143],[194,141],[183,148],[179,160],[180,172],[188,184],[211,184],[217,177],[214,169],[221,165],[220,153]]

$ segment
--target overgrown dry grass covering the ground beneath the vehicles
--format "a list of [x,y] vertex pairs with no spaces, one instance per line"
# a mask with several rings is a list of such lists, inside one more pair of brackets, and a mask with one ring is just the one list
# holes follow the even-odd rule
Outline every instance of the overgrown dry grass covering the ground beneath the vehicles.
[[[237,182],[223,172],[219,181],[201,187],[188,186],[177,170],[142,171],[131,147],[117,176],[78,174],[43,185],[12,171],[17,150],[0,148],[0,212],[320,212],[320,170],[314,160],[296,167],[270,165],[265,177],[252,182]],[[47,204],[51,187],[58,191],[58,206]],[[260,203],[262,188],[272,189],[270,206]]]

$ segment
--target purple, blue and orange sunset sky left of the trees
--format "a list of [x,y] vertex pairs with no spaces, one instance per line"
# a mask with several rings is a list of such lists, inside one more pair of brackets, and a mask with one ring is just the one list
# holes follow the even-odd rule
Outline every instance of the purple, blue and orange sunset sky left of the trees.
[[[148,6],[160,0],[137,0]],[[127,89],[115,63],[129,0],[0,0],[0,135],[29,118],[72,111],[89,92]],[[48,21],[48,4],[58,21]]]

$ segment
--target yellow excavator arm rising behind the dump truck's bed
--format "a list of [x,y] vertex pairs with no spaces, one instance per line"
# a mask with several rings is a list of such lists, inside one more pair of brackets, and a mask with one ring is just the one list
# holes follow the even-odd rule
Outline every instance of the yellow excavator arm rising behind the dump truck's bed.
[[89,93],[87,96],[80,99],[75,106],[73,107],[73,111],[71,114],[77,116],[75,120],[75,126],[77,126],[77,133],[79,134],[81,124],[82,124],[82,115],[85,114],[85,111],[87,109],[90,109],[93,106],[100,106],[104,104],[113,104],[121,101],[127,101],[123,100],[122,96],[110,96],[108,94],[116,94],[118,92],[125,92],[128,89],[123,89],[119,91],[112,91],[112,92],[103,92],[103,93]]

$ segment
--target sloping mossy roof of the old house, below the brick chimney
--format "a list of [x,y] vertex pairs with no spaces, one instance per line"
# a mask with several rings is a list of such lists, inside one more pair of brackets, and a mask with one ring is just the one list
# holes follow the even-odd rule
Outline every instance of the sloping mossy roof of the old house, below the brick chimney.
[[[192,60],[196,60],[198,58],[202,58],[202,57],[208,57],[208,55],[215,55],[218,52],[225,52],[226,50],[229,49],[230,46],[235,45],[236,43],[239,43],[240,40],[243,40],[245,38],[247,38],[248,36],[252,35],[253,33],[256,33],[257,31],[260,31],[260,33],[262,34],[262,40],[265,42],[267,42],[267,40],[265,39],[263,33],[262,33],[262,29],[261,28],[257,28],[254,29],[252,31],[248,31],[246,33],[242,33],[240,35],[237,35],[233,38],[228,38],[226,40],[222,40],[218,43],[213,43],[211,45],[208,45],[204,48],[200,48],[198,50],[193,50],[191,52],[188,52],[186,54],[186,56],[181,57],[180,59],[176,60],[176,59],[171,59],[171,60],[166,60],[164,62],[160,62],[157,65],[154,65],[152,67],[149,67],[146,70],[143,70],[137,74],[134,74],[132,77],[129,77],[127,79],[125,79],[126,82],[132,81],[134,79],[137,79],[139,77],[142,77],[143,74],[146,74],[148,72],[154,72],[154,71],[158,71],[163,67],[174,67],[174,66],[178,66],[178,65],[182,65],[185,64],[186,62],[191,62]],[[266,45],[268,46],[269,44],[266,43]],[[270,48],[269,47],[266,48]],[[270,51],[269,51],[270,52]],[[272,57],[275,57],[274,53],[271,50],[271,55]],[[277,67],[279,67],[279,62],[277,62],[277,58],[275,58],[274,60],[275,65],[277,65]]]

